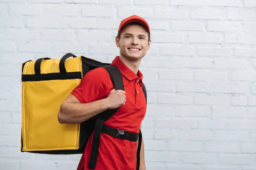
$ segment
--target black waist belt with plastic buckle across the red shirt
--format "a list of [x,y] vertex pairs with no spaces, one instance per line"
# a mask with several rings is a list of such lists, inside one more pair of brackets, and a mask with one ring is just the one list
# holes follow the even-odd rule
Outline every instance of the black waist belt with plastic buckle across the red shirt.
[[106,125],[102,126],[102,133],[106,133],[115,138],[126,139],[133,142],[137,142],[139,139],[139,134],[137,133],[127,132],[126,130],[119,130],[117,128],[112,128]]

